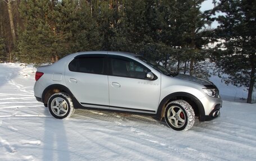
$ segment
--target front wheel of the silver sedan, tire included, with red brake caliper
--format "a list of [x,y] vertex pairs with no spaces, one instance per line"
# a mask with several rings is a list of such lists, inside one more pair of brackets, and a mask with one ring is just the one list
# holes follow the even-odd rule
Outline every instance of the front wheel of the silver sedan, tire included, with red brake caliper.
[[185,100],[174,100],[166,105],[164,118],[169,127],[177,131],[189,130],[195,123],[195,113]]

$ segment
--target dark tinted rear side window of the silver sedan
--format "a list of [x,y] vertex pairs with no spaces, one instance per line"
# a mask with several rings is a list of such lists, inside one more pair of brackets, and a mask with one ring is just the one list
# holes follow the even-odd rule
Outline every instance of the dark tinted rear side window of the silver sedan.
[[75,58],[68,65],[70,71],[103,74],[104,57],[80,57]]

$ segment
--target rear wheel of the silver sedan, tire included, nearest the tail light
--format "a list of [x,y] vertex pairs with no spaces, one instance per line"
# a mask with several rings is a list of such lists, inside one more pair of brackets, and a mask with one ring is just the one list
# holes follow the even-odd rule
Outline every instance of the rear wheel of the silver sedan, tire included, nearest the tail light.
[[75,111],[72,99],[66,93],[53,94],[48,100],[48,109],[58,119],[68,118]]

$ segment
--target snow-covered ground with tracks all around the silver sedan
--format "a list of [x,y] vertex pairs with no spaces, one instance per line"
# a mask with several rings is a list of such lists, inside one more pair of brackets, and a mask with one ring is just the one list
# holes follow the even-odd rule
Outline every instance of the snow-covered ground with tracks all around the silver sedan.
[[102,111],[58,120],[36,102],[34,72],[0,64],[0,160],[256,160],[256,104],[223,101],[221,117],[186,132]]

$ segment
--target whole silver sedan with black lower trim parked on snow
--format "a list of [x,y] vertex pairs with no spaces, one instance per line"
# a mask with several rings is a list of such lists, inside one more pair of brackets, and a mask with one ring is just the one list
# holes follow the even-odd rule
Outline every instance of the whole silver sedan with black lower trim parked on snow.
[[39,67],[34,94],[53,117],[75,108],[152,114],[174,130],[188,130],[220,114],[222,100],[209,81],[171,72],[125,52],[81,52]]

